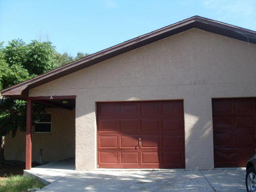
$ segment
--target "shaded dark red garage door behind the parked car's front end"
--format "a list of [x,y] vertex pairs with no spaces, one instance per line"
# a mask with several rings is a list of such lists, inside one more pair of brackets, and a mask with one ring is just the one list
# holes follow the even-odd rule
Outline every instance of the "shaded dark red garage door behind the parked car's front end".
[[255,98],[212,100],[214,166],[241,167],[255,151]]

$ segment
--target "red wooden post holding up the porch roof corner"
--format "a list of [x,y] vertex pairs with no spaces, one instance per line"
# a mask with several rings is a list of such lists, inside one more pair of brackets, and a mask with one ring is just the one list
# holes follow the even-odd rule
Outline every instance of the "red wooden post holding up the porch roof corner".
[[27,126],[26,126],[26,170],[30,170],[32,166],[32,100],[28,99],[27,103]]

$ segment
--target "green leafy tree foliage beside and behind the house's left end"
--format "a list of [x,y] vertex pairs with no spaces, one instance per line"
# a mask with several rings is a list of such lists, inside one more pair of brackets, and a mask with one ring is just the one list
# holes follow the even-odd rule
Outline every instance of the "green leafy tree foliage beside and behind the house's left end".
[[[78,52],[76,57],[68,53],[60,54],[51,42],[32,40],[26,44],[21,39],[0,43],[0,90],[48,72],[58,66],[70,63],[88,54]],[[1,105],[1,103],[0,103]],[[33,120],[44,113],[44,106],[33,106]],[[26,101],[6,98],[0,110],[0,136],[17,130],[26,130]]]

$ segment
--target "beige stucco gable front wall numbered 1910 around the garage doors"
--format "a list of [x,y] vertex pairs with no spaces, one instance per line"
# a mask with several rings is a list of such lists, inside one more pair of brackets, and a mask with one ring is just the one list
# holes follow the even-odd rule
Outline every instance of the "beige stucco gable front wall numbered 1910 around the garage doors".
[[96,168],[98,101],[184,99],[186,169],[214,168],[212,98],[256,96],[256,45],[191,29],[85,68],[30,96],[76,95],[76,169]]

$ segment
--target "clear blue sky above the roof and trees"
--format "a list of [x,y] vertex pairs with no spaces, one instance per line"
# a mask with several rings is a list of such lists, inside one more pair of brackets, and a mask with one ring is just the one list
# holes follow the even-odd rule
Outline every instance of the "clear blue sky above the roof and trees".
[[194,15],[256,30],[256,0],[0,0],[0,41],[94,53]]

